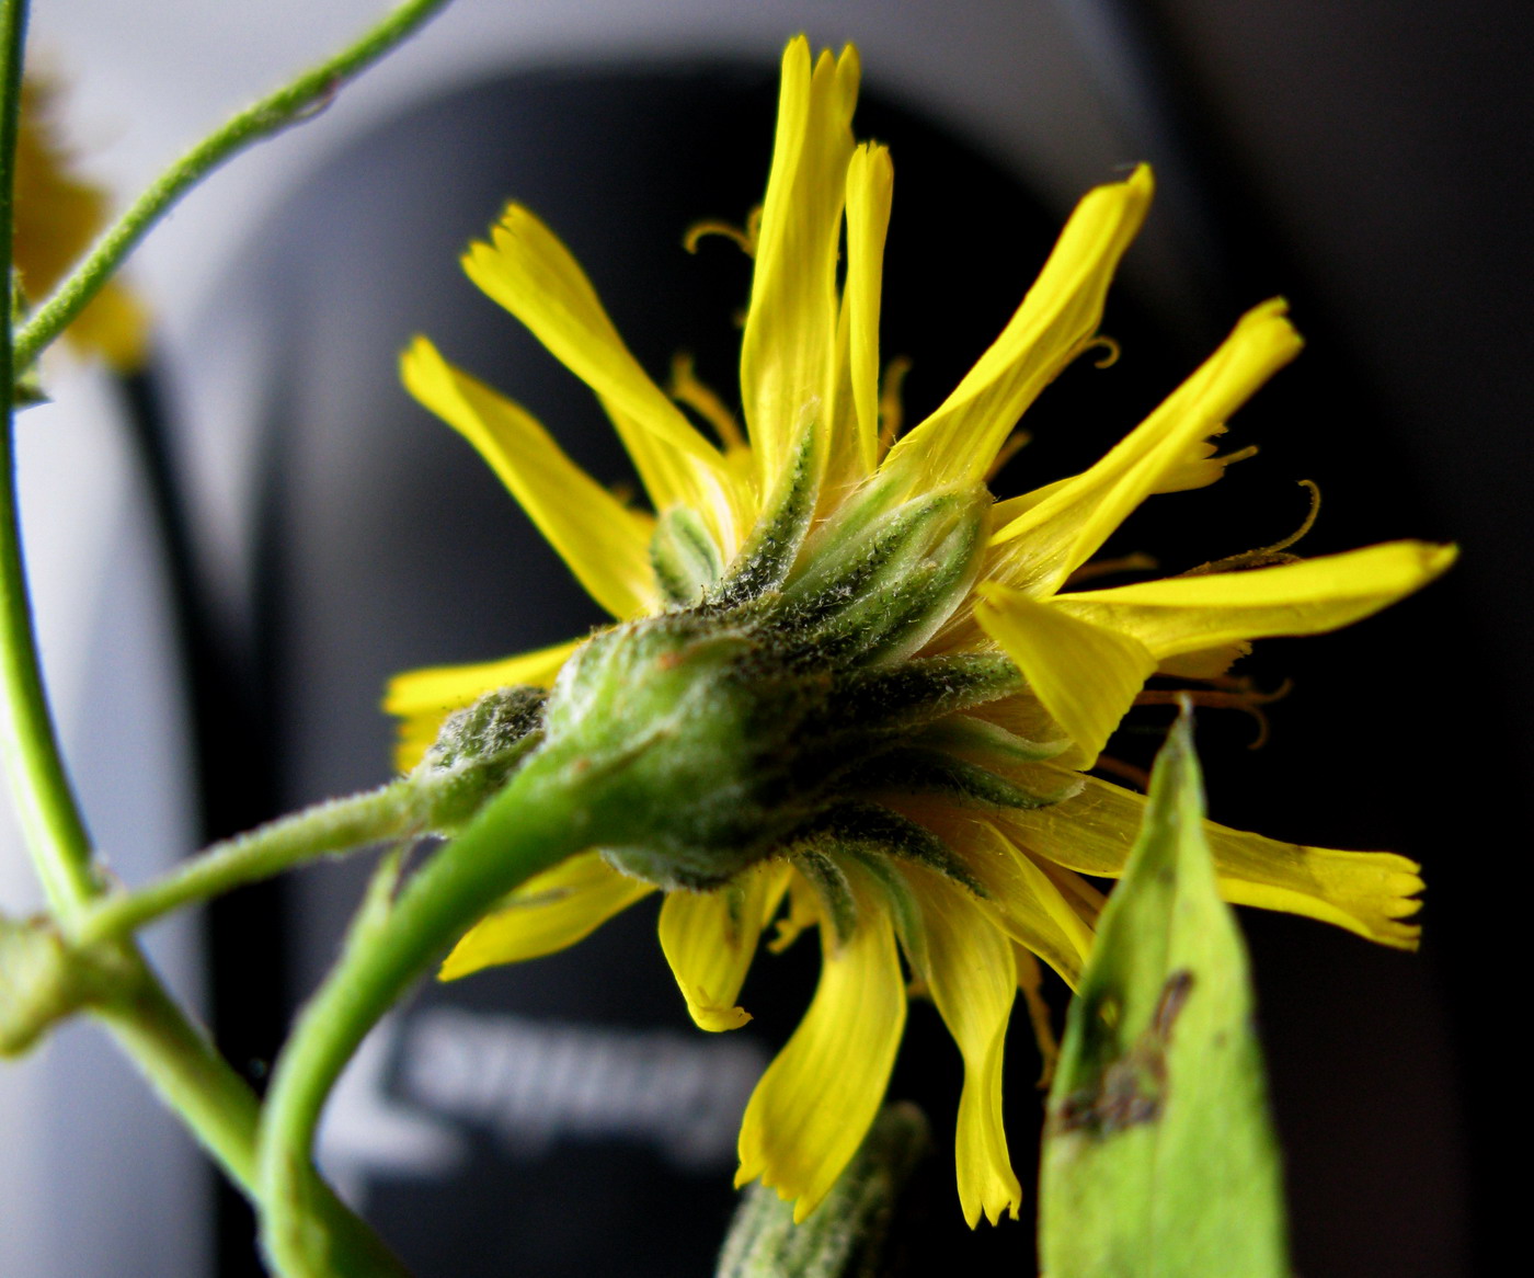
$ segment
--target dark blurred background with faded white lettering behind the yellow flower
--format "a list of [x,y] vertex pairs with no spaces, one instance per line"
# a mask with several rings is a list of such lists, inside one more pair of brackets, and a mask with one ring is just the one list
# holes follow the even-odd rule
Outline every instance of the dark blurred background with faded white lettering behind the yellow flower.
[[[1422,861],[1430,884],[1417,956],[1243,913],[1296,1270],[1488,1270],[1511,1220],[1490,1158],[1506,1138],[1511,1060],[1491,1016],[1505,1016],[1516,971],[1503,902],[1522,853],[1516,819],[1497,809],[1526,775],[1534,707],[1517,551],[1534,391],[1529,8],[950,9],[946,23],[908,23],[911,38],[942,43],[948,58],[988,49],[991,68],[997,44],[1048,11],[1060,74],[1112,123],[1094,135],[1103,164],[1089,181],[1149,160],[1160,190],[1103,325],[1123,357],[1081,364],[1046,393],[1028,419],[1034,443],[999,488],[1091,462],[1244,308],[1282,293],[1309,347],[1227,437],[1261,454],[1215,488],[1154,499],[1109,551],[1149,551],[1181,571],[1272,543],[1304,515],[1301,479],[1324,499],[1309,554],[1394,537],[1463,546],[1447,580],[1384,617],[1262,644],[1246,672],[1266,687],[1293,680],[1270,707],[1270,739],[1250,750],[1249,720],[1207,712],[1200,749],[1216,819],[1393,848]],[[864,44],[854,127],[891,146],[897,173],[882,348],[914,359],[916,420],[1011,315],[1062,221],[1071,166],[1008,144],[1016,103],[996,81],[1002,123],[988,130],[983,103],[943,112],[910,77],[882,75],[873,37],[839,8],[807,11],[781,35],[796,25],[816,44]],[[920,46],[908,57],[919,61]],[[627,60],[549,58],[400,109],[339,140],[284,193],[186,357],[132,388],[140,423],[163,430],[167,509],[195,508],[198,486],[245,494],[236,566],[198,545],[195,522],[183,528],[207,836],[376,784],[390,674],[488,660],[600,620],[472,451],[399,390],[396,353],[430,333],[600,479],[624,482],[591,396],[468,284],[457,253],[506,198],[529,204],[653,374],[690,350],[729,397],[749,264],[724,241],[687,256],[680,236],[759,199],[775,95],[770,55],[652,41]],[[1029,127],[1069,137],[1072,118]],[[221,410],[249,419],[259,443],[210,468],[196,436]],[[1146,761],[1164,723],[1137,716],[1115,753]],[[212,1017],[258,1083],[362,875],[324,867],[210,911]],[[746,991],[758,1019],[726,1037],[692,1031],[644,905],[569,954],[430,988],[348,1075],[327,1166],[422,1275],[706,1273],[733,1201],[732,1115],[808,999],[811,950],[761,959]],[[1009,1135],[1026,1178],[1037,1060],[1026,1025],[1014,1029]],[[1026,1224],[971,1235],[959,1220],[957,1089],[957,1052],[914,1006],[891,1097],[927,1108],[936,1155],[908,1217],[910,1272],[1011,1270],[1020,1257],[1026,1269]],[[219,1203],[219,1272],[256,1272],[249,1220],[229,1195]]]

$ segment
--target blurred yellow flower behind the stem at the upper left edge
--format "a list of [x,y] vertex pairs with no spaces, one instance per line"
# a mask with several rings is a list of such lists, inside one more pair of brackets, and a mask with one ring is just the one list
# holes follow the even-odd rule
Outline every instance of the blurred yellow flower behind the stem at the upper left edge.
[[[54,91],[21,83],[15,140],[15,268],[28,302],[52,292],[91,245],[106,221],[106,193],[69,172],[69,153],[54,124]],[[144,359],[144,315],[121,284],[109,281],[66,330],[80,351],[92,351],[118,371]]]

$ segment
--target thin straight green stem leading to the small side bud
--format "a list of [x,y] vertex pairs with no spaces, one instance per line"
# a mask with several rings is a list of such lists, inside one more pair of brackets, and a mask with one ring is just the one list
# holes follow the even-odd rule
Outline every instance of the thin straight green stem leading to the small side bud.
[[405,778],[330,799],[213,844],[147,887],[92,902],[74,933],[81,944],[127,936],[172,910],[270,878],[319,856],[353,851],[420,830],[423,789]]

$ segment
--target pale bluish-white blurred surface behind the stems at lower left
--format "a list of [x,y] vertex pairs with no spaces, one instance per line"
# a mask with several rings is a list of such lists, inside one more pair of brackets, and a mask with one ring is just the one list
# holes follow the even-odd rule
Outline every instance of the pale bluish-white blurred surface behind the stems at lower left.
[[[17,428],[28,563],[44,674],[77,790],[114,873],[152,876],[187,850],[181,703],[163,583],[103,382],[57,379],[63,403]],[[0,804],[0,905],[38,891]],[[187,921],[150,954],[196,1000]],[[69,1025],[25,1062],[0,1062],[0,1273],[206,1270],[201,1155],[94,1025]]]

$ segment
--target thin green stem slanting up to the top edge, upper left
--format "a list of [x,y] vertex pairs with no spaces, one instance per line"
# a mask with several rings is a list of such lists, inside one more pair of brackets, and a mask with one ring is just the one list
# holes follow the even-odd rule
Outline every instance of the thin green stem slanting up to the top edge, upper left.
[[[233,115],[172,164],[97,241],[89,256],[37,307],[15,338],[15,368],[28,368],[97,295],[149,229],[213,169],[261,138],[322,109],[341,86],[425,25],[448,0],[405,0],[360,40]],[[9,235],[6,236],[9,244]]]

